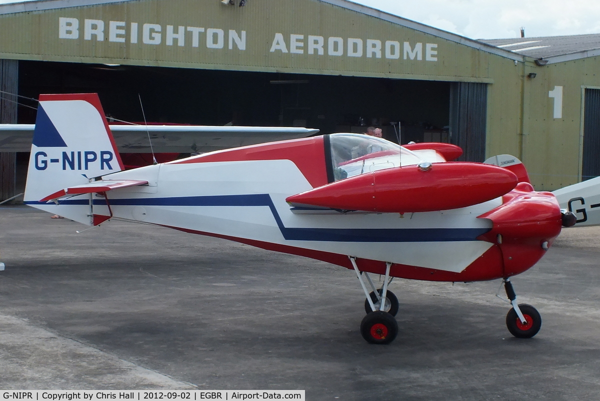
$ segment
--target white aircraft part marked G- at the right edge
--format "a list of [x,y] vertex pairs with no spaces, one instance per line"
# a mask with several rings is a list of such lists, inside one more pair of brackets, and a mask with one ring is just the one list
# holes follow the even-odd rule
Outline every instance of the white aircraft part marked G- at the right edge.
[[553,191],[560,207],[577,216],[575,227],[600,225],[600,177]]

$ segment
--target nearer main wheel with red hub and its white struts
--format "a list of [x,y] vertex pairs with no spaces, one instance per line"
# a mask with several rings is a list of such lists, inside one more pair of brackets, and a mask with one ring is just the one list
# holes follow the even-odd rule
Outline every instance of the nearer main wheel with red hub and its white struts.
[[362,272],[359,271],[358,266],[356,266],[356,258],[352,258],[352,256],[349,256],[349,258],[350,262],[352,263],[352,267],[356,272],[356,277],[358,277],[359,282],[361,282],[362,291],[365,292],[365,297],[367,297],[368,306],[371,308],[371,312],[368,312],[367,316],[365,316],[361,322],[362,337],[371,344],[389,344],[394,341],[398,335],[398,322],[396,322],[396,319],[393,315],[385,312],[385,307],[387,304],[386,301],[389,300],[388,294],[391,294],[391,292],[388,292],[388,280],[389,269],[391,268],[392,264],[386,264],[385,281],[383,282],[380,295],[377,294],[379,296],[376,295],[377,291],[375,291],[373,282],[371,282],[371,279],[367,275],[368,281],[371,284],[371,288],[374,289],[371,294],[373,294],[375,300],[379,298],[379,301],[374,302],[373,298],[371,298],[371,294],[368,292],[364,280],[362,279]]

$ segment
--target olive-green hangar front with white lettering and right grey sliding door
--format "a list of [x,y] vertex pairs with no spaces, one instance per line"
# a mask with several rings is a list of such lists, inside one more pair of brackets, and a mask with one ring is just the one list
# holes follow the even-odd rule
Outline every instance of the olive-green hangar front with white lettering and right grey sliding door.
[[345,0],[2,5],[0,58],[446,82],[450,140],[521,158],[538,190],[581,179],[584,88],[600,88],[596,56],[544,64]]

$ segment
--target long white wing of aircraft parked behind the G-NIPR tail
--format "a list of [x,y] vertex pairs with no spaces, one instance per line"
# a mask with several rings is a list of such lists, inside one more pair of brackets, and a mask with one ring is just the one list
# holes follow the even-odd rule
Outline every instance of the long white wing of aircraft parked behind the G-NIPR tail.
[[[220,125],[109,124],[123,153],[205,153],[276,140],[311,136],[317,129],[302,127],[241,127]],[[0,152],[29,152],[34,124],[0,124]]]

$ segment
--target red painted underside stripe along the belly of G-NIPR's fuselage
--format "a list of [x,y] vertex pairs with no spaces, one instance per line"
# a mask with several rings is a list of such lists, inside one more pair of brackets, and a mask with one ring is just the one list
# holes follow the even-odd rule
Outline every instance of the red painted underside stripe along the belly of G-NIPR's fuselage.
[[[161,226],[191,234],[223,238],[224,240],[235,241],[237,243],[247,244],[275,252],[305,256],[306,258],[317,259],[318,261],[328,262],[334,265],[345,267],[349,270],[353,270],[352,263],[350,262],[350,259],[348,259],[348,256],[338,253],[304,249],[289,245],[268,243],[265,241],[248,240],[247,238],[238,238],[230,235],[214,234],[212,232],[197,231],[168,225]],[[382,261],[357,258],[356,265],[360,271],[366,271],[367,273],[373,274],[385,274],[386,265],[385,262]],[[500,249],[497,245],[494,245],[460,273],[411,265],[392,264],[390,268],[390,274],[392,277],[400,277],[402,279],[434,282],[475,282],[495,280],[504,277],[504,271],[502,268],[502,252],[500,252]]]

